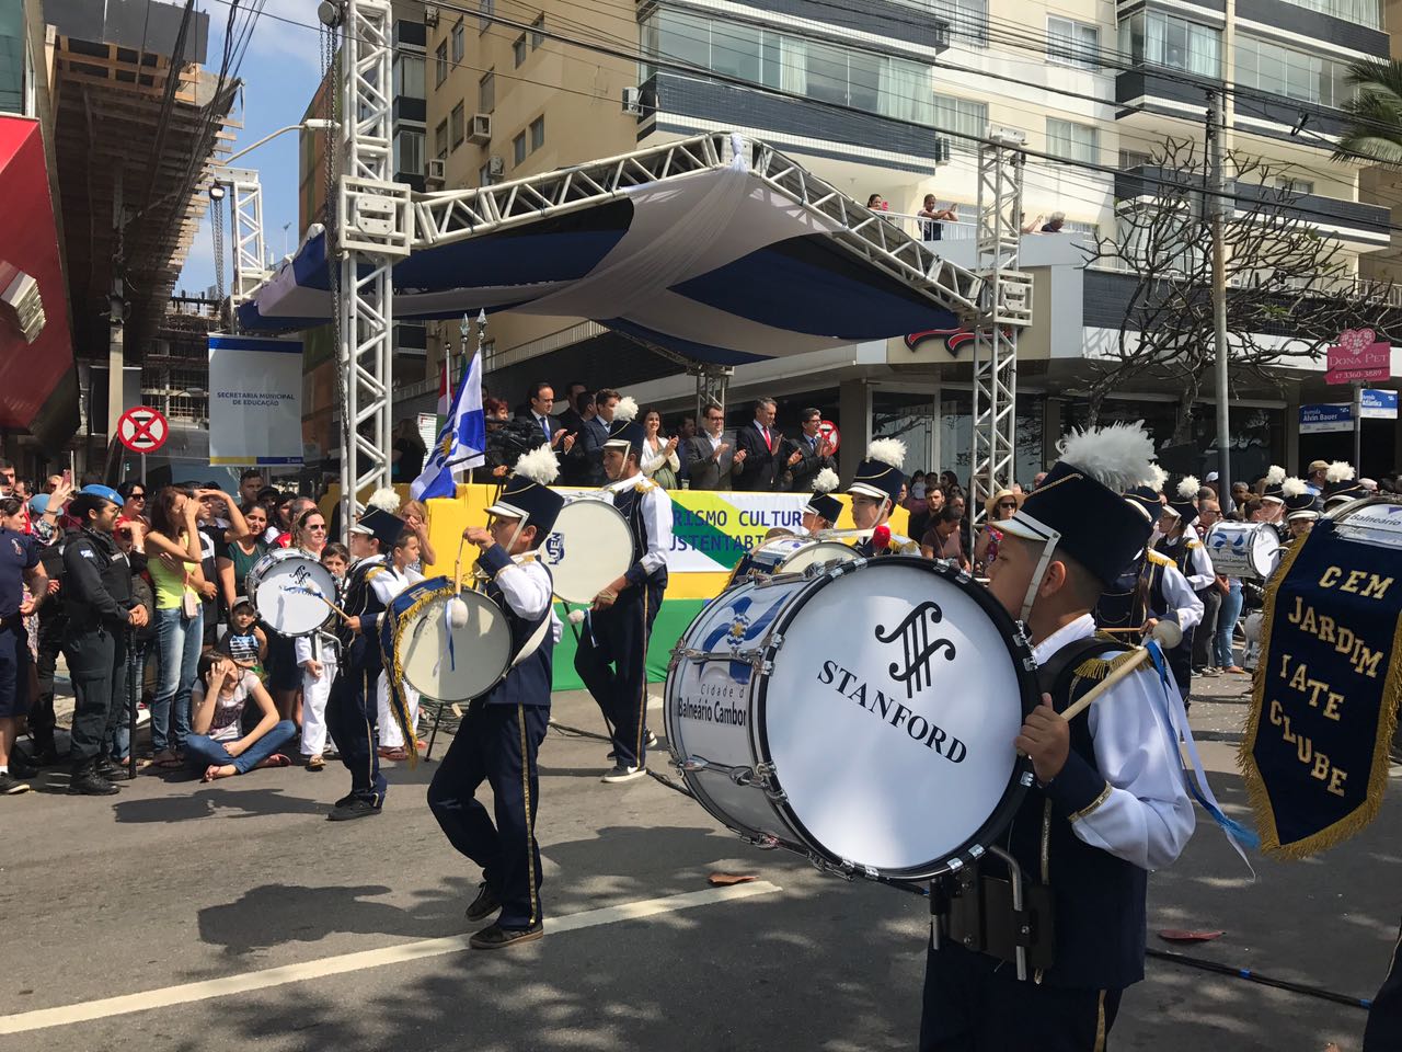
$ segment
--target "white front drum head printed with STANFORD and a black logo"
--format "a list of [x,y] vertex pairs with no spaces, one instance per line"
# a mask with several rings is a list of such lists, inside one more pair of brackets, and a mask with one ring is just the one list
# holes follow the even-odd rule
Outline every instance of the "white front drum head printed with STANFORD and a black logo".
[[986,589],[892,555],[817,578],[775,631],[758,752],[809,843],[920,879],[1011,821],[1036,675]]

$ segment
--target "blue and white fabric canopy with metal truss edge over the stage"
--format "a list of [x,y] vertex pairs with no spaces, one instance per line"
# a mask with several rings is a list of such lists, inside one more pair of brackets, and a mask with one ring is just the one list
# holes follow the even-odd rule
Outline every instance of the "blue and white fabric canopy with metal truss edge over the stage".
[[[481,189],[416,194],[397,318],[583,317],[737,363],[927,328],[981,282],[791,159],[714,133]],[[245,332],[331,318],[327,234],[238,307]]]

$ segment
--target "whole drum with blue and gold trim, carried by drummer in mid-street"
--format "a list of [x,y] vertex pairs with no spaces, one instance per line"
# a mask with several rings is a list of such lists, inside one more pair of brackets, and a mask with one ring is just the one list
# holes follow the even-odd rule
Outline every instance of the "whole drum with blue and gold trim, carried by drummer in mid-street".
[[453,582],[421,581],[390,603],[381,631],[386,654],[394,654],[404,682],[435,701],[471,701],[495,687],[512,659],[506,616],[481,592],[463,592],[467,624],[449,623]]

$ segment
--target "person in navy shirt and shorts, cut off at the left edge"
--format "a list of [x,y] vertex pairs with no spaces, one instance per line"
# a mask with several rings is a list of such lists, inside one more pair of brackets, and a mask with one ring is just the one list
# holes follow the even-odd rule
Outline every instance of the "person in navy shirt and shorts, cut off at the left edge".
[[[6,463],[0,460],[0,468]],[[22,530],[24,511],[20,498],[0,498],[0,795],[29,788],[27,781],[10,773],[10,757],[20,717],[29,706],[29,637],[24,619],[34,613],[49,588],[34,537]],[[31,599],[24,598],[25,585]]]

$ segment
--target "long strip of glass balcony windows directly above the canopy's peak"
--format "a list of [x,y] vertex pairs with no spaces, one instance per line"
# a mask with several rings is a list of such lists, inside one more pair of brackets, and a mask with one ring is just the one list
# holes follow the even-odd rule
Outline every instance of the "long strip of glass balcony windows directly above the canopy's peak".
[[666,59],[826,102],[934,123],[932,67],[925,63],[669,8],[646,15],[641,31],[644,80],[658,72],[648,58]]

